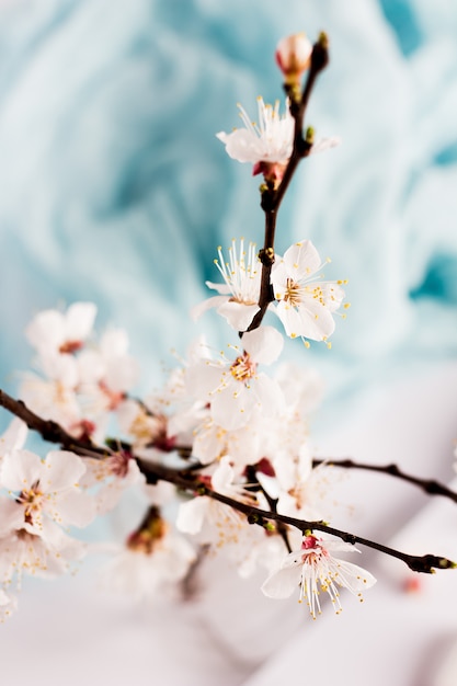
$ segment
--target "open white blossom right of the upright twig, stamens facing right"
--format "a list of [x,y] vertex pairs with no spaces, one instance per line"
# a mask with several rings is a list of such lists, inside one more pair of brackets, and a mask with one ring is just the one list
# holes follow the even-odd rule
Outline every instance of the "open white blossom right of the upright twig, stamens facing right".
[[334,331],[333,313],[344,298],[343,282],[320,281],[321,268],[319,253],[309,240],[292,245],[273,265],[275,311],[290,338],[327,341]]

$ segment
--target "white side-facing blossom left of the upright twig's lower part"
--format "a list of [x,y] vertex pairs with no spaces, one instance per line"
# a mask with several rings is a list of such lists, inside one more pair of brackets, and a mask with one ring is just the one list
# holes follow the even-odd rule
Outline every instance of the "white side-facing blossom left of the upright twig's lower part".
[[233,240],[229,248],[229,261],[226,262],[222,250],[218,250],[219,259],[215,264],[224,278],[224,284],[206,282],[218,296],[204,300],[193,309],[196,319],[210,307],[224,317],[236,331],[245,331],[259,311],[260,283],[262,264],[259,261],[255,243],[250,243],[244,251],[244,241],[240,240],[239,250]]

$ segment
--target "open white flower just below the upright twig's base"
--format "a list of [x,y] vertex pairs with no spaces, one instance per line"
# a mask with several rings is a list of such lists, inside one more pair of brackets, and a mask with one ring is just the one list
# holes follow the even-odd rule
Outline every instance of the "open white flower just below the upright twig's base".
[[212,419],[227,431],[245,426],[255,409],[272,416],[279,411],[283,396],[276,381],[259,371],[258,365],[275,362],[283,344],[283,336],[273,327],[248,331],[243,347],[232,347],[235,359],[206,359],[190,366],[187,390],[210,404]]

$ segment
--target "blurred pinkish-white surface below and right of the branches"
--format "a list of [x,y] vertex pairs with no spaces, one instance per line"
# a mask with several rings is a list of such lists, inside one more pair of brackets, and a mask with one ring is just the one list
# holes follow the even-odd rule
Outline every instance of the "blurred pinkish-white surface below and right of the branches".
[[[319,447],[450,480],[456,437],[457,364],[448,364],[367,392]],[[384,542],[402,529],[402,549],[415,552],[419,539],[425,552],[457,558],[457,506],[444,499],[362,472],[345,477],[335,499],[353,505],[336,508],[339,528]],[[263,598],[221,559],[206,565],[206,594],[170,611],[100,593],[90,568],[75,579],[25,581],[18,614],[0,627],[1,683],[450,686],[443,679],[457,639],[457,571],[421,576],[422,591],[407,594],[401,563],[363,552],[357,562],[378,584],[363,605],[343,593],[342,615],[325,607],[316,621],[296,599]]]

